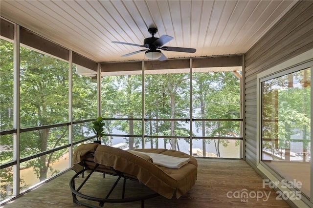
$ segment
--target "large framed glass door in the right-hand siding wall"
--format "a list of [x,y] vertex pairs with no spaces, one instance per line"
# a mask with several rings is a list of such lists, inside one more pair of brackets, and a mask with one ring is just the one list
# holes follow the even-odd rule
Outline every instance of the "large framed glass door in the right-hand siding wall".
[[278,188],[289,189],[281,189],[285,197],[310,206],[313,61],[311,58],[291,67],[286,64],[258,75],[258,167],[271,175],[271,180],[275,178]]

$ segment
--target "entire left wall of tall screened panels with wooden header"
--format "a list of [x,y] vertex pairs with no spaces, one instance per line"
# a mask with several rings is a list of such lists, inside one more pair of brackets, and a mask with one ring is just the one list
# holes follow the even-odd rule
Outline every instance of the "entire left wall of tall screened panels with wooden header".
[[2,203],[68,169],[72,141],[74,148],[92,142],[97,81],[79,74],[77,67],[94,74],[98,63],[2,17],[0,21]]

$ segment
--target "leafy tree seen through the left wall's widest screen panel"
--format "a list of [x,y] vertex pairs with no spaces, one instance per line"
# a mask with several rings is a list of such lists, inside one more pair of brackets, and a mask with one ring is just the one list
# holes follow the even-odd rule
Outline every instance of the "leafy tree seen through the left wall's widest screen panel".
[[[20,121],[21,128],[67,123],[68,63],[20,48]],[[21,157],[45,152],[68,143],[68,128],[44,128],[21,134]],[[40,181],[47,178],[50,164],[67,149],[42,155],[26,162]]]

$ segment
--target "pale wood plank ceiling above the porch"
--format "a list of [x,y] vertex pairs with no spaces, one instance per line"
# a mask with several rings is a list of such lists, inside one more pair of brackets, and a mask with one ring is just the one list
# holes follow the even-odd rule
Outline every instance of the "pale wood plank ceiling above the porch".
[[163,51],[168,58],[242,54],[296,1],[293,0],[1,0],[0,15],[96,62],[146,60],[143,44],[174,37],[166,46],[196,53]]

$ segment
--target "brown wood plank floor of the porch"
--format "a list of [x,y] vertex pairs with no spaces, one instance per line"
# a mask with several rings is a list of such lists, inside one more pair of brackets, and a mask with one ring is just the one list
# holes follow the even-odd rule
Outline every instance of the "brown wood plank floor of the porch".
[[[77,208],[80,207],[72,202],[71,191],[68,183],[75,174],[73,170],[56,177],[41,187],[32,190],[21,197],[2,206],[3,208]],[[77,180],[81,180],[77,178]],[[96,196],[105,195],[115,177],[97,173],[94,178],[90,178],[90,183],[81,192],[89,191]],[[105,181],[105,183],[104,183]],[[222,159],[198,159],[198,179],[195,186],[179,199],[166,199],[158,196],[145,201],[146,208],[289,208],[290,206],[283,200],[277,200],[277,194],[273,189],[262,187],[262,178],[242,160],[222,160]],[[121,190],[122,181],[118,184],[113,196]],[[129,181],[126,184],[130,191],[127,196],[136,194],[146,194],[150,190],[138,182]],[[238,194],[246,191],[250,196],[240,198]],[[116,193],[115,193],[116,192]],[[257,199],[255,194],[261,196],[269,195],[268,200]],[[120,193],[118,193],[120,196]],[[97,204],[93,204],[97,205]],[[104,208],[140,208],[140,202],[109,204]]]

